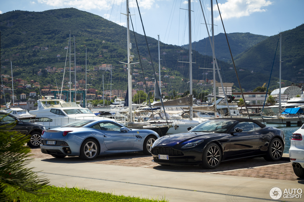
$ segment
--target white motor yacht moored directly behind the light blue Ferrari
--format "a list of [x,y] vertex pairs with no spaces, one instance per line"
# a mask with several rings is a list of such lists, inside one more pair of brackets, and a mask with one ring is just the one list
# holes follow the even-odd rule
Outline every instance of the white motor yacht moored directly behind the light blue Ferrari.
[[[111,118],[98,117],[88,108],[82,108],[75,102],[65,102],[61,99],[46,97],[47,99],[37,100],[38,109],[29,111],[31,114],[36,114],[36,119],[30,122],[37,122],[46,128],[52,129],[72,121],[83,119],[105,119],[114,121]],[[43,102],[45,102],[45,104]]]

